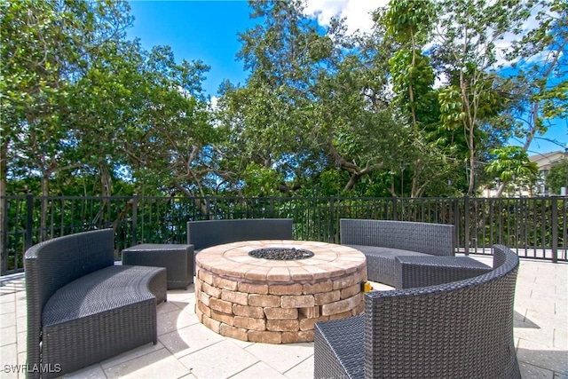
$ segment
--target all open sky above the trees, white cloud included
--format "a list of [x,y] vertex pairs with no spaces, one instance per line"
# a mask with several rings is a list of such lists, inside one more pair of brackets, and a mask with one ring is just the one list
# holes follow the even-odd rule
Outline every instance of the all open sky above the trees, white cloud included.
[[[331,16],[347,18],[350,30],[366,30],[372,25],[368,12],[387,0],[310,0],[306,12],[321,25]],[[138,37],[146,50],[155,45],[169,45],[177,61],[201,59],[210,68],[203,88],[211,97],[226,79],[244,83],[248,73],[242,61],[236,60],[241,48],[237,34],[252,28],[256,20],[248,18],[244,0],[221,1],[130,1],[135,20],[128,30],[129,38]],[[545,138],[568,144],[568,120],[558,120]],[[513,145],[520,145],[511,141]],[[563,146],[535,139],[529,154],[563,150]]]

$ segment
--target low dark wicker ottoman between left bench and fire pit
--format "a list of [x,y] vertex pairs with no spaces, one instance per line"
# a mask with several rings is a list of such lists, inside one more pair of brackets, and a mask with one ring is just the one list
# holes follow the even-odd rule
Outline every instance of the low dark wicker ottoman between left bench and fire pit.
[[168,289],[193,283],[193,245],[143,243],[122,250],[122,265],[165,267]]

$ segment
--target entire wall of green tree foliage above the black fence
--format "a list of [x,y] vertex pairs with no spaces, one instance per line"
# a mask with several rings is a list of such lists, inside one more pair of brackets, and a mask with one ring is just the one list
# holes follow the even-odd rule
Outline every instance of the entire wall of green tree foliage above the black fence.
[[[213,109],[204,62],[126,40],[128,3],[1,3],[0,195],[474,194],[532,175],[493,148],[567,115],[563,0],[391,0],[352,36],[343,20],[318,27],[303,0],[249,5],[250,75],[222,83]],[[504,78],[497,46],[533,5]]]

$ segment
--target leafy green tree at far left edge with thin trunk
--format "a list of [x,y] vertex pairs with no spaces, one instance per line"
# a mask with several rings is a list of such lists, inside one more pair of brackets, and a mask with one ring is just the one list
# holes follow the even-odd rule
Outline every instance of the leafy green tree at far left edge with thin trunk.
[[[83,138],[91,125],[80,122],[73,101],[85,94],[77,84],[97,66],[92,62],[105,59],[123,38],[130,8],[124,2],[28,0],[2,7],[0,195],[9,172],[15,178],[39,172],[48,195],[50,178],[86,164],[91,143],[100,140]],[[42,231],[45,207],[43,201]]]

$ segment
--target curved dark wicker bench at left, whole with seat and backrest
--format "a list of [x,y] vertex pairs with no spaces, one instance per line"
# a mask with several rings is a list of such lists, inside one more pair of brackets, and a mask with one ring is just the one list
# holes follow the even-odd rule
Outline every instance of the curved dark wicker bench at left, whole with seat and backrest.
[[63,375],[157,343],[166,270],[115,266],[113,236],[76,233],[26,252],[28,377]]

